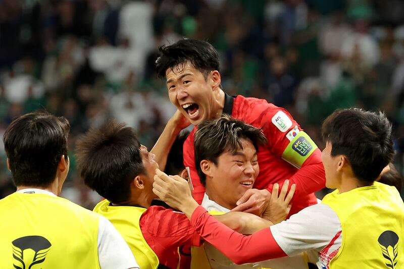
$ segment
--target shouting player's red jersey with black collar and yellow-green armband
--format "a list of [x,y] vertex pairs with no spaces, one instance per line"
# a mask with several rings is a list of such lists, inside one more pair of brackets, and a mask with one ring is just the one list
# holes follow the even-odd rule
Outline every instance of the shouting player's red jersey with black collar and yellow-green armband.
[[[264,99],[226,94],[223,113],[262,128],[268,139],[268,144],[258,149],[260,174],[254,188],[272,191],[274,183],[282,186],[286,179],[289,179],[290,185],[295,183],[296,191],[289,216],[317,203],[314,192],[325,187],[321,151],[285,109]],[[184,142],[183,154],[184,165],[190,170],[194,198],[200,204],[205,187],[200,183],[195,169],[195,131],[196,127]]]

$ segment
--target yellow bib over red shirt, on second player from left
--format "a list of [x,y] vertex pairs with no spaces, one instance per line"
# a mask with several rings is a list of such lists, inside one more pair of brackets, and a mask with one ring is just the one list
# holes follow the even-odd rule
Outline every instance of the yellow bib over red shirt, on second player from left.
[[113,206],[110,201],[100,201],[94,212],[106,217],[122,235],[142,269],[156,269],[159,258],[144,240],[139,220],[146,208],[138,206]]

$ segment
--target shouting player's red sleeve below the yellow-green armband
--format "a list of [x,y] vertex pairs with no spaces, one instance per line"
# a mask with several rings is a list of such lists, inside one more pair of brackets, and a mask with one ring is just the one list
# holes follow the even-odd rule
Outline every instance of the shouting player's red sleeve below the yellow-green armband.
[[[279,191],[286,179],[278,182]],[[289,188],[292,184],[296,184],[292,202],[299,196],[308,195],[325,188],[325,172],[321,162],[321,151],[316,149],[306,160],[301,168],[289,178]],[[273,184],[268,186],[269,192],[272,193]]]

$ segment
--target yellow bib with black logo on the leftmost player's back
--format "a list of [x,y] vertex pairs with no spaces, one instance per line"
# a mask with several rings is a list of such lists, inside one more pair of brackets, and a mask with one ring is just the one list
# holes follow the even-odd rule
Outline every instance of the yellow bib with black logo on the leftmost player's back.
[[0,267],[98,269],[99,218],[64,198],[13,193],[0,200]]

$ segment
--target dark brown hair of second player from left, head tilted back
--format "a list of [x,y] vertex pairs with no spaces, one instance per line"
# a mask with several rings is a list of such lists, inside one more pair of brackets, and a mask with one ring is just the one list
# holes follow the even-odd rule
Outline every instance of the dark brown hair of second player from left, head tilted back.
[[133,128],[109,121],[77,141],[77,168],[84,184],[113,203],[130,198],[130,183],[145,174]]

